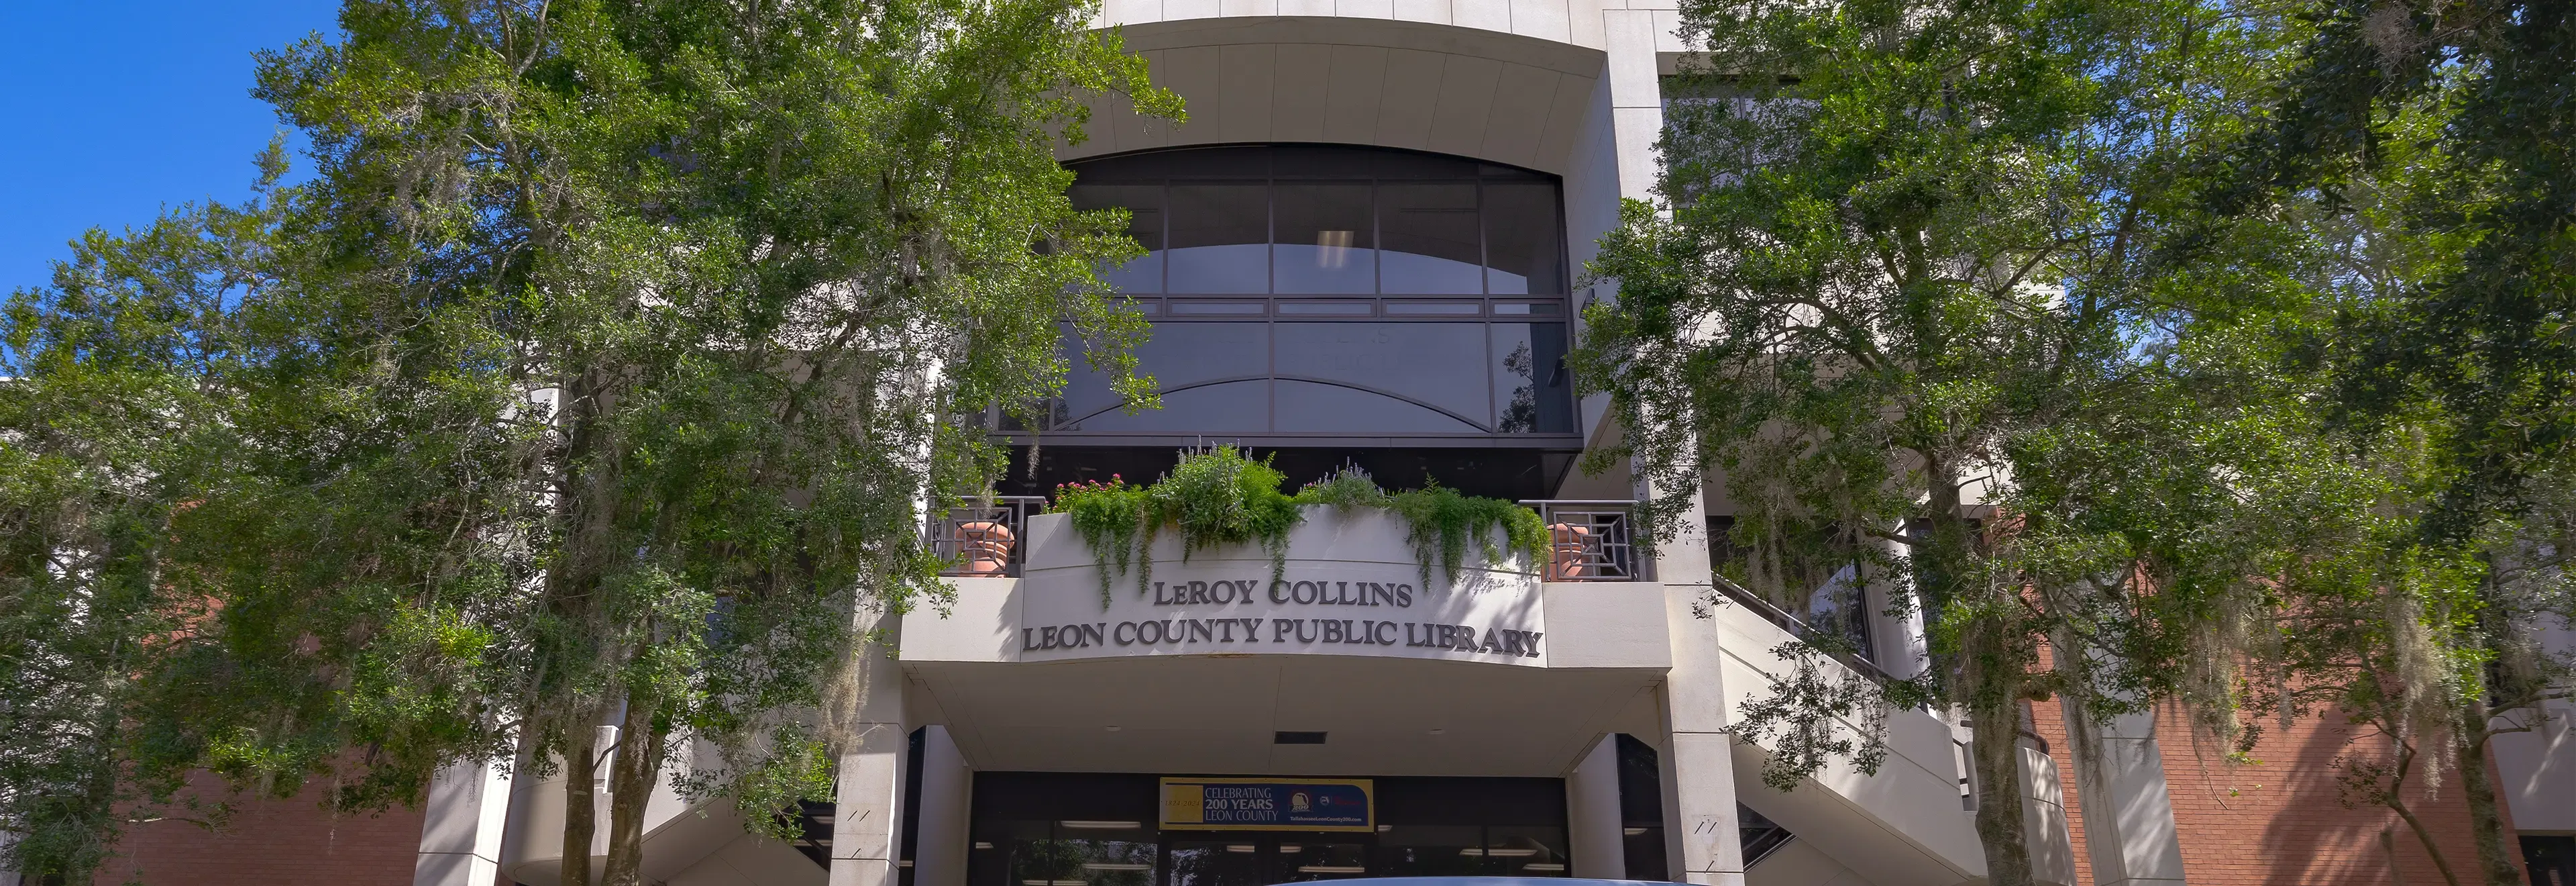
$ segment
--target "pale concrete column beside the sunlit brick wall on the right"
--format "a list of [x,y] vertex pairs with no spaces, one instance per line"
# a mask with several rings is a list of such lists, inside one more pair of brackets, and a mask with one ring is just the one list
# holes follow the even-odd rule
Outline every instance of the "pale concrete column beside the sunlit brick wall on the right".
[[2156,713],[2094,721],[2074,698],[2066,711],[2076,801],[2084,809],[2084,853],[2097,886],[2182,886],[2182,842],[2164,786]]

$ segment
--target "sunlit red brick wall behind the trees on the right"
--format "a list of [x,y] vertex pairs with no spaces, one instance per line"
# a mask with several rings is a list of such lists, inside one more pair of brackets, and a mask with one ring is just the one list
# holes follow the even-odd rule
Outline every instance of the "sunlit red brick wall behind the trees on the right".
[[[2076,881],[2092,886],[2063,708],[2056,701],[2043,701],[2032,706],[2032,721],[2056,752],[2066,780]],[[2195,747],[2172,719],[2164,719],[2156,734],[2174,798],[2174,827],[2182,832],[2182,873],[2192,886],[2442,883],[2421,840],[2396,811],[2344,806],[2336,793],[2334,757],[2370,755],[2385,747],[2383,739],[2365,737],[2367,729],[2354,729],[2339,716],[2303,719],[2290,729],[2267,724],[2264,739],[2251,752],[2257,762],[2249,765],[2228,762],[2218,747]],[[2434,791],[2416,783],[2409,793],[2409,809],[2434,834],[2452,873],[2476,883],[2478,855],[2468,834],[2468,806],[2460,801],[2458,775],[2452,773]],[[2380,840],[2383,832],[2388,842]]]

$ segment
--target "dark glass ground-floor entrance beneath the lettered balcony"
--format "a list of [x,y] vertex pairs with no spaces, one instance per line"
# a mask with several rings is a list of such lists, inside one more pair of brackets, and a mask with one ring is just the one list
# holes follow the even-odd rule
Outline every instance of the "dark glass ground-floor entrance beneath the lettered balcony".
[[1569,876],[1558,778],[1365,778],[1360,829],[1167,827],[1159,775],[976,773],[971,886]]

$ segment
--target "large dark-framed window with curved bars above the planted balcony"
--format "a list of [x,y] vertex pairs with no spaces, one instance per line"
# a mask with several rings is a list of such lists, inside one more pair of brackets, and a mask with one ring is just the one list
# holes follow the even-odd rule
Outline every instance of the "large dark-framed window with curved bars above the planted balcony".
[[1074,165],[1144,258],[1162,410],[1079,373],[1048,433],[1533,438],[1574,433],[1566,247],[1548,175],[1355,147],[1216,147]]

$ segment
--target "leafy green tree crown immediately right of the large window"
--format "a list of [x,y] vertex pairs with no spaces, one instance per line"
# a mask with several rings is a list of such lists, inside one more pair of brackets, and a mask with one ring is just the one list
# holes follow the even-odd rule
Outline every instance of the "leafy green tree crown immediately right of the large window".
[[[2205,348],[2228,373],[2259,361],[2202,319],[2282,296],[2159,255],[2213,224],[2205,157],[2300,33],[2208,0],[1685,3],[1708,52],[1667,80],[1659,203],[1592,263],[1618,299],[1584,312],[1574,366],[1628,433],[1592,466],[1628,456],[1667,533],[1721,482],[1741,551],[1721,569],[1790,610],[1850,569],[1922,613],[1932,659],[1906,693],[1981,734],[2032,693],[2177,693],[2182,659],[2244,649],[2259,598],[2231,572],[2259,561],[2244,538],[2208,543],[2254,536],[2213,492],[2259,466],[2233,438],[2262,430],[2231,415],[2311,430],[2316,376],[2205,410]],[[1780,724],[1857,703],[1783,680]],[[1865,747],[1770,739],[1788,780]],[[2027,876],[2017,814],[1978,829],[1999,883]]]

